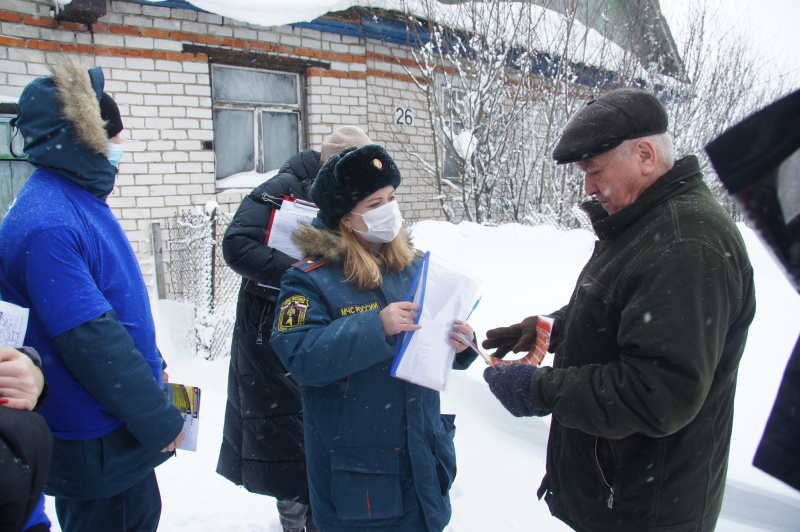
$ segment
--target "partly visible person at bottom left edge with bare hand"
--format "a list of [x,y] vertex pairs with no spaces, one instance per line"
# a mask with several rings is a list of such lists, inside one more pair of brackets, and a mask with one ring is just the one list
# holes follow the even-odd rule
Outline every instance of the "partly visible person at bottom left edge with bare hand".
[[47,385],[35,349],[0,347],[0,530],[48,532],[44,483],[53,436],[38,414]]

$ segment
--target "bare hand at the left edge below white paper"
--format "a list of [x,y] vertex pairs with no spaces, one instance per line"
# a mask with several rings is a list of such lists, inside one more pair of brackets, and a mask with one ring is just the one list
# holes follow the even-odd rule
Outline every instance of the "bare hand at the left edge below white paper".
[[13,347],[0,347],[0,405],[33,410],[44,388],[44,375],[33,360]]

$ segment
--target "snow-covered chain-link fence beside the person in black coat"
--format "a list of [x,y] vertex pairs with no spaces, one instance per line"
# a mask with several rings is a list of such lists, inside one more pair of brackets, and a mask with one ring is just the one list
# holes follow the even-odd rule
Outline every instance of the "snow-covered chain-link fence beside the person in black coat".
[[166,220],[167,276],[178,301],[194,306],[198,354],[213,360],[230,354],[241,278],[222,258],[222,237],[231,215],[184,211]]

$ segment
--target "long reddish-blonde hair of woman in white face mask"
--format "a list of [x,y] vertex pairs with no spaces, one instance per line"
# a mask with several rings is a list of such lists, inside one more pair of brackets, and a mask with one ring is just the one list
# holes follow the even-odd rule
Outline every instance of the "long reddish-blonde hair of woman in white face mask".
[[361,245],[353,232],[341,222],[338,231],[346,243],[343,266],[345,281],[356,285],[359,290],[380,288],[384,271],[399,272],[414,260],[414,249],[405,231],[377,253]]

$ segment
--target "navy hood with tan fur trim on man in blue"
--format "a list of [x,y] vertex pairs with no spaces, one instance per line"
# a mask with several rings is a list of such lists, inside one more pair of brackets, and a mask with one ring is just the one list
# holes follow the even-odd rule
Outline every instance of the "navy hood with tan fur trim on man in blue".
[[52,76],[33,80],[19,98],[15,125],[28,161],[105,199],[114,188],[116,168],[107,158],[108,135],[100,116],[103,71],[72,57],[51,70]]

